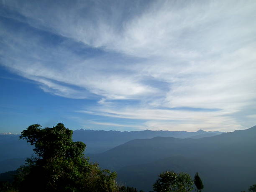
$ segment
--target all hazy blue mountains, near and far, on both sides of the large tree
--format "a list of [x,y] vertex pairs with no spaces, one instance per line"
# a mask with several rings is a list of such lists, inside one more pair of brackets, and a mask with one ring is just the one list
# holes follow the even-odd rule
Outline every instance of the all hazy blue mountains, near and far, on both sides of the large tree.
[[[87,144],[90,161],[116,171],[120,184],[144,191],[166,170],[192,178],[199,172],[205,192],[240,192],[256,184],[256,126],[230,133],[80,129],[73,140]],[[0,135],[0,145],[0,172],[15,170],[33,153],[17,135]]]

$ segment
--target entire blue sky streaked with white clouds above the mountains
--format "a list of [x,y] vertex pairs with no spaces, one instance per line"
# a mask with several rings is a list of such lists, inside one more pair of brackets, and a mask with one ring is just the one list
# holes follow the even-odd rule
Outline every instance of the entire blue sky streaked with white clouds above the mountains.
[[0,132],[256,125],[255,0],[0,0]]

